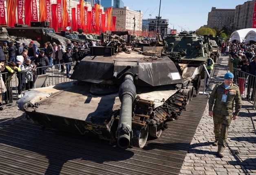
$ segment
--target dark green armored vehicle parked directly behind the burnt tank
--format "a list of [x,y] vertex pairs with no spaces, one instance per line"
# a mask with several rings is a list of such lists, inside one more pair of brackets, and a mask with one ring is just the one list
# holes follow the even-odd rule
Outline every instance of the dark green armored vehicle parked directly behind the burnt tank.
[[203,37],[181,32],[164,39],[166,54],[175,62],[200,65],[206,61],[212,46]]

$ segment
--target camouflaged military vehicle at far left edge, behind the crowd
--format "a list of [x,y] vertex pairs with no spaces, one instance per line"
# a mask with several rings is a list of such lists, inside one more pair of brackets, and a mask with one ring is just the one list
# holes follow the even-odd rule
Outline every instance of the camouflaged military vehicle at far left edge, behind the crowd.
[[[31,39],[27,39],[26,37],[15,37],[15,36],[9,36],[7,29],[4,27],[0,27],[0,43],[4,43],[7,42],[7,44],[13,42],[15,44],[17,43],[26,43],[26,45],[29,45],[29,43],[31,42]],[[38,41],[34,41],[34,44],[37,47],[40,47],[40,44],[38,43]]]

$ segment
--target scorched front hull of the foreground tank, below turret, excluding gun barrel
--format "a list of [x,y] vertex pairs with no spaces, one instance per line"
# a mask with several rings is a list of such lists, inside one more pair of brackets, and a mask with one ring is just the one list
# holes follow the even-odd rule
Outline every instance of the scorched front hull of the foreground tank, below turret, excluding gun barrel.
[[[118,93],[92,95],[91,86],[91,83],[77,85],[66,82],[53,87],[32,89],[17,104],[32,123],[42,128],[115,141],[119,120],[117,116],[121,106]],[[154,101],[157,108],[163,105],[163,99],[168,99],[178,91],[173,85],[154,88],[141,86],[137,88],[137,95],[147,101]]]

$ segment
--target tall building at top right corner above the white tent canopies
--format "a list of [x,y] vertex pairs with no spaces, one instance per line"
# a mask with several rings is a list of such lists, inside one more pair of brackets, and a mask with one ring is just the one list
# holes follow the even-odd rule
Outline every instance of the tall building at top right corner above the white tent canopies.
[[247,1],[242,5],[237,5],[234,15],[234,30],[252,28],[252,18],[254,13],[255,0]]

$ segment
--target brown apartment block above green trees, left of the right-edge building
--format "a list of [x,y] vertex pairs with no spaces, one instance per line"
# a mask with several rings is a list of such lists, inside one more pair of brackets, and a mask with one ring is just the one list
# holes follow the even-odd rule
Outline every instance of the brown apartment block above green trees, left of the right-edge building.
[[207,27],[222,28],[226,26],[232,30],[234,17],[235,9],[216,9],[216,7],[212,7],[212,11],[208,13]]

